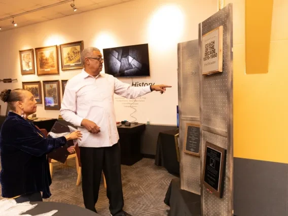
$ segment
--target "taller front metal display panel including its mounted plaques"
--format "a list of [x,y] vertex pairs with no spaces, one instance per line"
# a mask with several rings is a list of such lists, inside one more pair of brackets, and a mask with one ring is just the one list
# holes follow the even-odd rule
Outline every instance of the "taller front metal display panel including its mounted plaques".
[[[223,27],[222,27],[223,26]],[[206,49],[218,52],[215,66],[203,66]],[[214,32],[214,33],[213,33]],[[213,38],[213,40],[207,40]],[[203,41],[205,40],[205,41]],[[205,46],[205,47],[203,47]],[[215,48],[215,51],[213,51]],[[204,50],[204,52],[203,52]],[[219,50],[221,50],[219,48]],[[219,52],[221,53],[221,52]],[[217,60],[218,59],[218,60]],[[210,60],[210,59],[208,59]],[[217,63],[218,61],[218,63]],[[232,4],[199,24],[201,206],[203,215],[232,215],[233,212],[233,32]],[[223,71],[221,72],[221,67]],[[215,72],[221,73],[215,73]],[[208,75],[209,74],[209,75]]]

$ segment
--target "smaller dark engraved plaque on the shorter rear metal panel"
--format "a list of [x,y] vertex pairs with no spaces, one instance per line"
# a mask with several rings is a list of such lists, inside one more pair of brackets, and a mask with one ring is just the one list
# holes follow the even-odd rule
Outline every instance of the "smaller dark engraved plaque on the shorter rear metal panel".
[[200,126],[187,123],[185,131],[184,152],[200,157]]

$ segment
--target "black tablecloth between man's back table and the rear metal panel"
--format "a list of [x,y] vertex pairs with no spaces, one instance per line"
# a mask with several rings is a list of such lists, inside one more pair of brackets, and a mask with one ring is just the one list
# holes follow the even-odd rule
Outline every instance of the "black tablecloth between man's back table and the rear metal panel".
[[171,174],[179,175],[179,162],[175,146],[175,135],[178,130],[167,130],[160,132],[157,140],[155,165],[164,166]]

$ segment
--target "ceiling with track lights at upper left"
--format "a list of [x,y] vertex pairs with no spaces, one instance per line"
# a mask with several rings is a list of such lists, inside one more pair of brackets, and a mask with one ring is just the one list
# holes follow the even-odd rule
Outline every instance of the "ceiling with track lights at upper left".
[[0,0],[0,32],[15,28],[13,16],[19,28],[129,1],[132,0],[75,0],[77,11],[74,11],[70,6],[73,0]]

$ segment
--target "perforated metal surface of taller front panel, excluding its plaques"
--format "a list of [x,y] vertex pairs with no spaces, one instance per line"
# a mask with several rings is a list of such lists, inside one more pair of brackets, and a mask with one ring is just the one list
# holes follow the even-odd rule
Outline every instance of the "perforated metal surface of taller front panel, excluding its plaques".
[[[202,75],[202,35],[223,25],[223,72]],[[202,215],[232,215],[233,209],[233,32],[232,4],[199,24],[201,176],[205,142],[227,149],[223,198],[201,190]],[[203,182],[203,179],[202,179]]]

